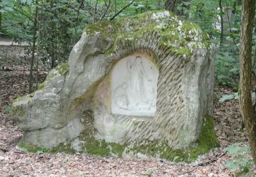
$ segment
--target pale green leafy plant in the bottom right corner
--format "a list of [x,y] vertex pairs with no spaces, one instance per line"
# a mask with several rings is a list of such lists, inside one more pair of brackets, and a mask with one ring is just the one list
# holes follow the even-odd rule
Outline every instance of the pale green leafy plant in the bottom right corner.
[[248,145],[239,142],[228,146],[225,150],[232,157],[232,159],[226,161],[225,166],[236,172],[238,176],[247,174],[250,168],[253,167],[254,163]]

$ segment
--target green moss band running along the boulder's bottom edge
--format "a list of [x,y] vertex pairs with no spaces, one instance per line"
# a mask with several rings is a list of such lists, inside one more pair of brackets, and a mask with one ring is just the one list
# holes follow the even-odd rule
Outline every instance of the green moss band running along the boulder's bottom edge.
[[[184,149],[173,149],[168,146],[167,142],[145,142],[143,144],[117,144],[108,143],[105,140],[97,140],[87,132],[81,133],[81,146],[80,152],[87,152],[91,155],[99,156],[111,156],[122,157],[124,153],[133,154],[141,153],[147,157],[156,157],[160,159],[167,159],[169,161],[184,161],[191,163],[197,160],[199,155],[203,155],[214,147],[220,146],[218,139],[214,132],[214,121],[210,116],[205,117],[203,127],[197,141],[197,146],[184,148]],[[74,153],[76,150],[72,148],[71,143],[61,143],[55,148],[44,148],[42,146],[35,146],[33,144],[25,144],[20,142],[18,147],[23,148],[29,152],[67,152]]]

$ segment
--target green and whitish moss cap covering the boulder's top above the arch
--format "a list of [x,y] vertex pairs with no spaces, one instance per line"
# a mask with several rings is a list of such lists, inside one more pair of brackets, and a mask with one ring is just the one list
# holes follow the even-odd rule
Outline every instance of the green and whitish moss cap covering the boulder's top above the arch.
[[194,49],[210,47],[208,35],[199,26],[167,11],[145,12],[116,21],[98,22],[86,27],[85,32],[91,36],[99,35],[103,41],[111,41],[112,47],[105,53],[107,56],[120,48],[132,48],[144,35],[159,37],[158,48],[169,48],[167,52],[180,54],[186,60],[190,59]]

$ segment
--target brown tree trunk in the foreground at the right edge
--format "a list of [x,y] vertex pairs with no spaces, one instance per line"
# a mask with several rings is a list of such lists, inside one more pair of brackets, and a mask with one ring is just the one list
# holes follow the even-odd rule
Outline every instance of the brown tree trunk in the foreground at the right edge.
[[240,110],[256,164],[256,116],[251,99],[252,35],[255,0],[242,0],[240,36]]

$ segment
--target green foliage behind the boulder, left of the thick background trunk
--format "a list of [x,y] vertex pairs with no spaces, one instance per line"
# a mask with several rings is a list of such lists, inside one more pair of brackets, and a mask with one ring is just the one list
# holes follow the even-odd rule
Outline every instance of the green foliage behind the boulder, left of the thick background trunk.
[[[37,56],[55,67],[68,60],[72,46],[79,40],[83,28],[100,20],[139,14],[163,7],[165,1],[91,1],[38,0]],[[124,7],[126,7],[124,9]],[[35,0],[0,1],[2,25],[0,33],[17,42],[31,42],[35,20]],[[122,10],[121,13],[119,11]]]

